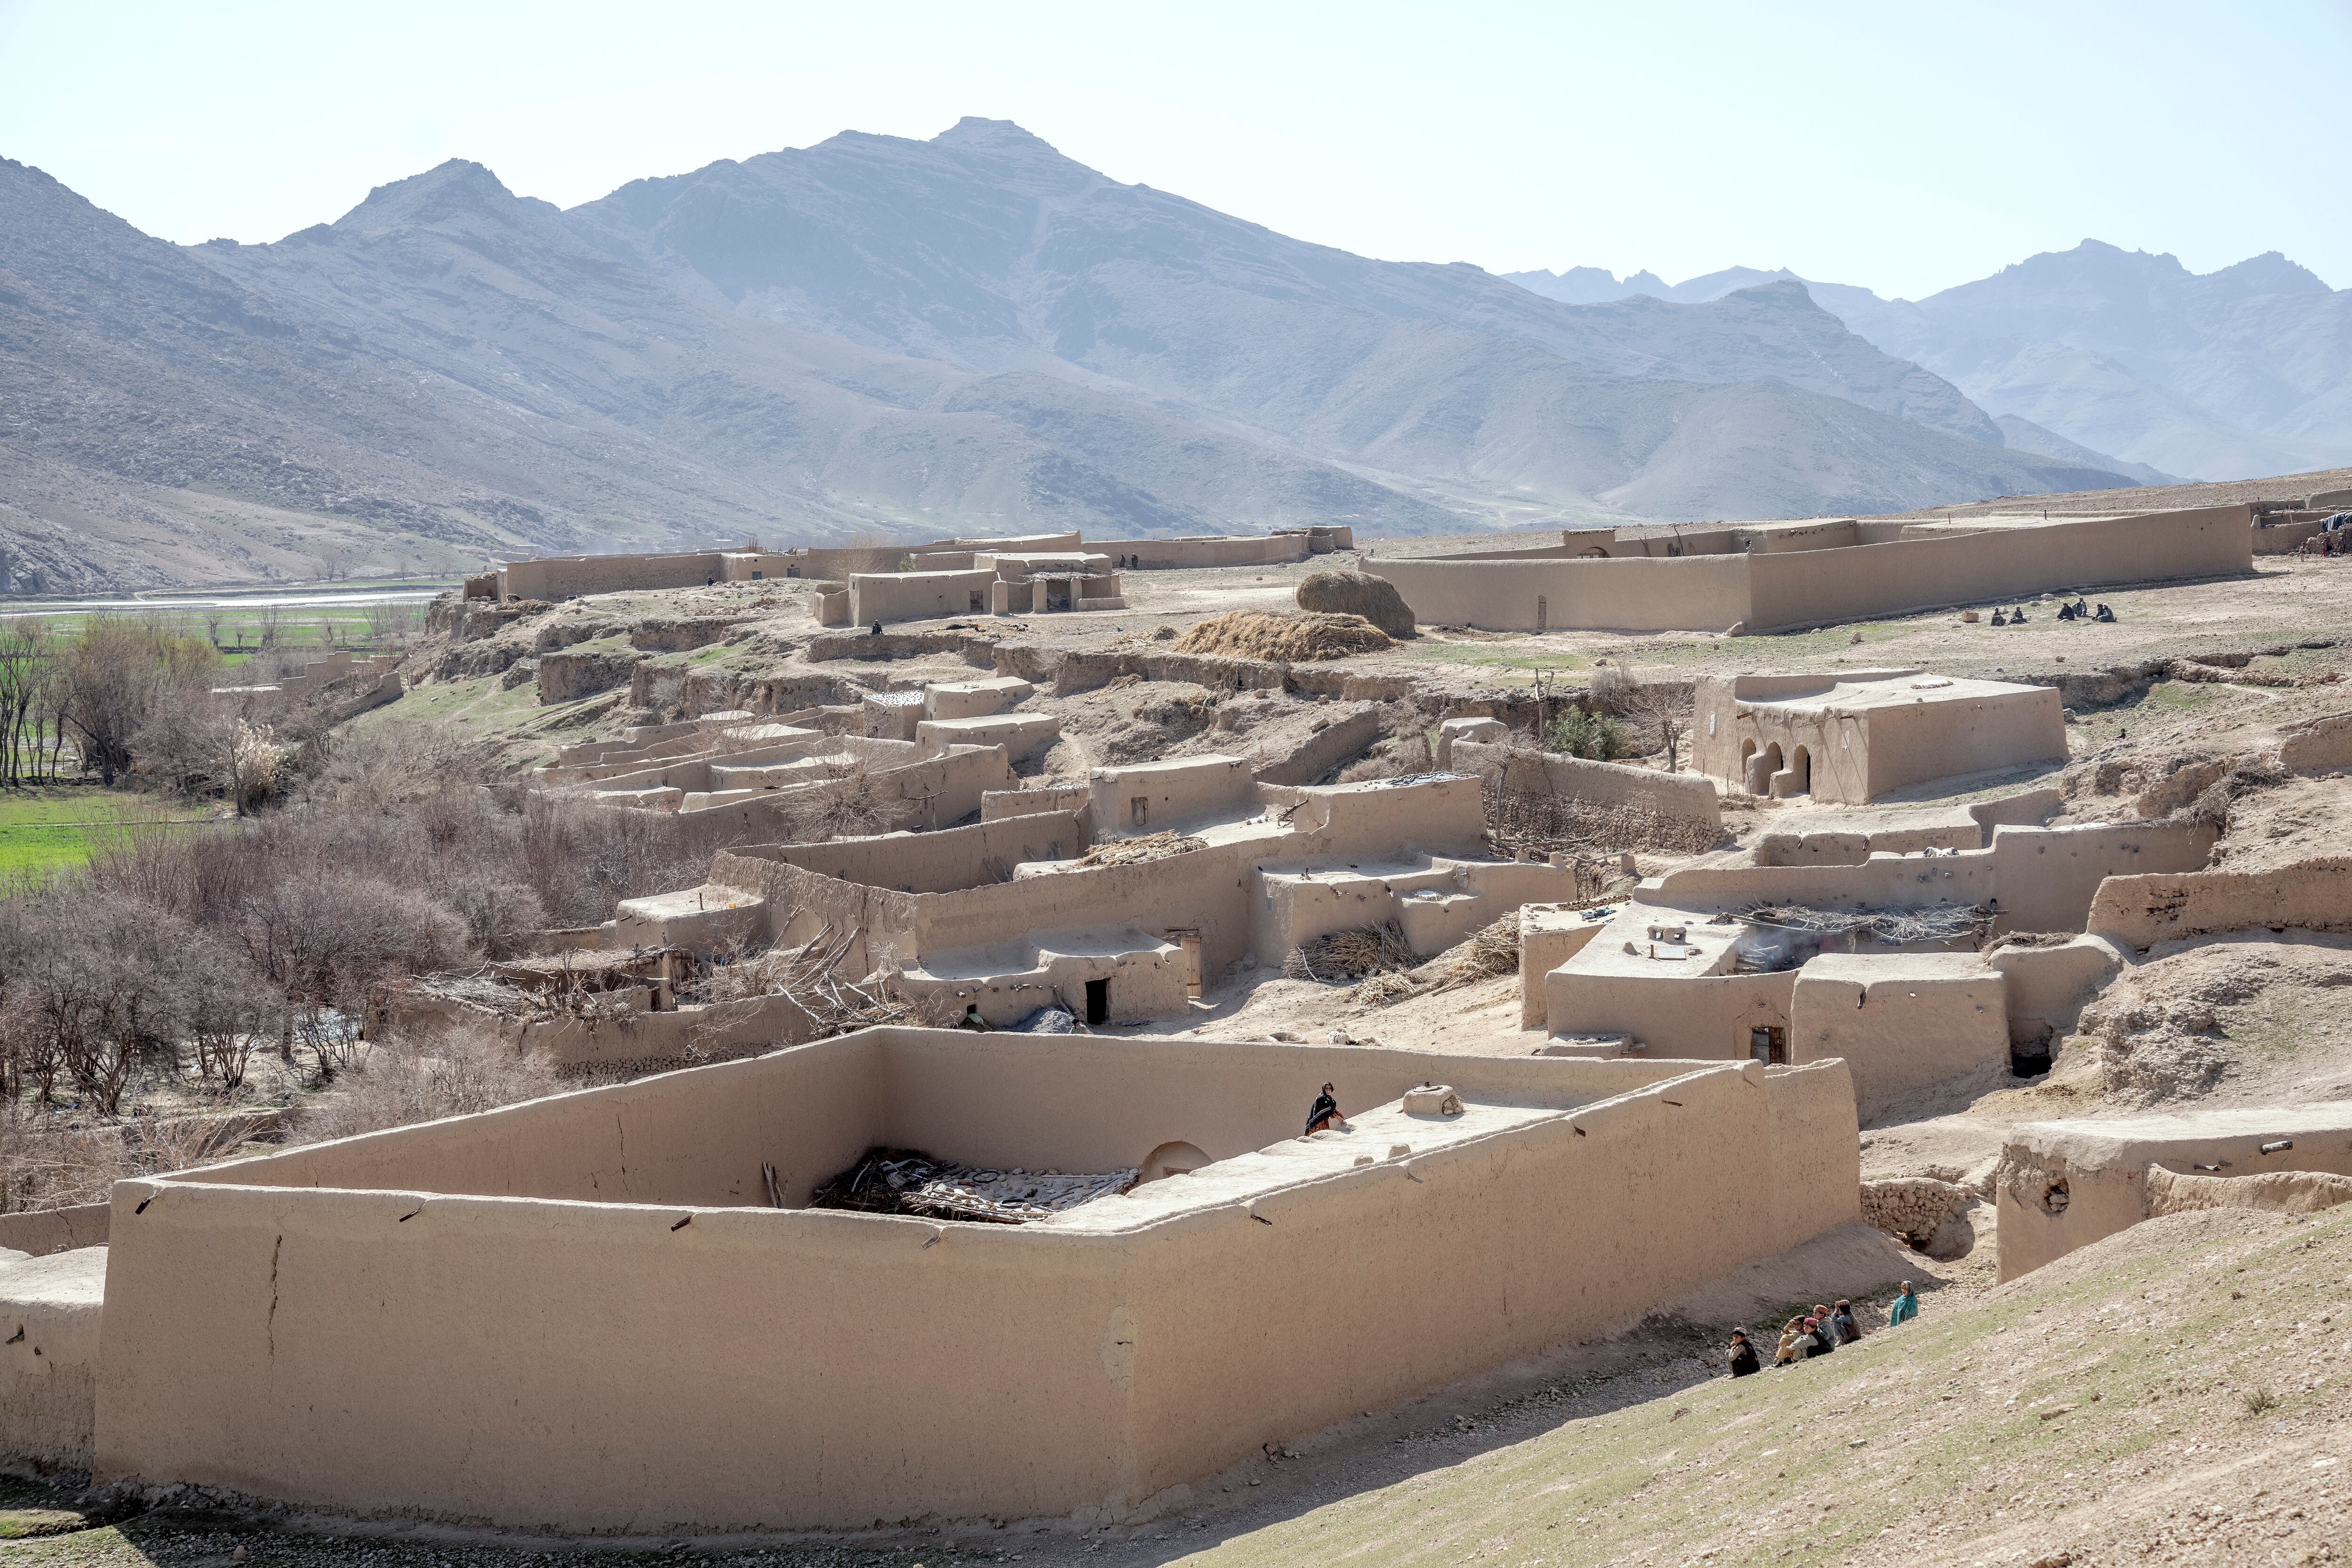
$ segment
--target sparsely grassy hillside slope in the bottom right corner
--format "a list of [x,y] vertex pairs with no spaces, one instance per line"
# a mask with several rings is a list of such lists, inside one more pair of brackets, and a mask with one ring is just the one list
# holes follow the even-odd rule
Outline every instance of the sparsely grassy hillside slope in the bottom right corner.
[[2352,1366],[2324,1326],[2347,1267],[2345,1211],[2178,1215],[1830,1361],[1571,1420],[1185,1561],[2310,1561],[2352,1526]]

